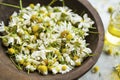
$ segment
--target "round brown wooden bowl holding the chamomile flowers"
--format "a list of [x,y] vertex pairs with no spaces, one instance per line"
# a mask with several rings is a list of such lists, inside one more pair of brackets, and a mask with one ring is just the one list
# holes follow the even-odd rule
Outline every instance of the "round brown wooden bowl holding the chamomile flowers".
[[[23,6],[28,6],[30,3],[47,5],[50,1],[51,0],[23,0]],[[19,5],[19,0],[3,0],[3,2]],[[5,54],[5,49],[0,41],[0,80],[73,80],[80,78],[96,63],[101,54],[104,39],[103,24],[98,13],[87,0],[65,0],[65,4],[80,15],[82,15],[83,12],[87,13],[89,17],[95,21],[94,26],[96,27],[96,30],[93,31],[99,32],[99,34],[90,34],[86,38],[87,42],[90,44],[89,47],[95,55],[87,58],[82,66],[77,67],[66,74],[49,74],[47,76],[40,75],[37,72],[27,74],[25,71],[19,71],[15,67]],[[61,3],[56,2],[53,6],[56,5],[61,5]],[[14,11],[18,11],[18,9],[0,6],[0,21],[5,21],[7,24],[9,16]]]

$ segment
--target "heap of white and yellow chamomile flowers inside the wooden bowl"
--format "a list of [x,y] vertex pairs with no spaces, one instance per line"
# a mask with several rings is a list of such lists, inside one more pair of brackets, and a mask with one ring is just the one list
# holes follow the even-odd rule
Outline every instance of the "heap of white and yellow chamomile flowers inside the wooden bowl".
[[14,12],[8,25],[0,23],[0,32],[5,33],[0,38],[22,69],[64,74],[92,53],[85,37],[93,24],[87,14],[80,16],[66,6],[30,4]]

